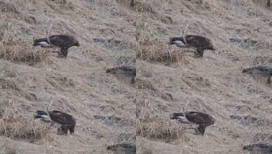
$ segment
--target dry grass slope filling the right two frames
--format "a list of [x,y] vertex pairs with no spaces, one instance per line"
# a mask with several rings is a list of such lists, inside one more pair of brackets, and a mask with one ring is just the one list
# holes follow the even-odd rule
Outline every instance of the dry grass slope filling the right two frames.
[[[272,141],[271,85],[242,73],[242,68],[271,64],[272,10],[265,3],[138,4],[137,153],[249,153],[244,145]],[[194,58],[191,49],[168,47],[170,36],[186,34],[211,38],[216,51]],[[168,120],[181,111],[209,113],[216,123],[204,136],[192,129],[180,133],[180,124],[172,121],[168,127]]]

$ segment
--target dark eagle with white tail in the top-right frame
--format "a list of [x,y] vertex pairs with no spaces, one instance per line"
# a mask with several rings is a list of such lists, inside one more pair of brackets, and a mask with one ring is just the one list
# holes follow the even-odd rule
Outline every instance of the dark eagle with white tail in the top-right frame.
[[204,36],[199,35],[186,35],[185,37],[170,37],[169,45],[177,45],[185,44],[185,47],[194,47],[196,48],[196,55],[199,57],[203,57],[204,50],[215,50],[213,43],[211,40]]

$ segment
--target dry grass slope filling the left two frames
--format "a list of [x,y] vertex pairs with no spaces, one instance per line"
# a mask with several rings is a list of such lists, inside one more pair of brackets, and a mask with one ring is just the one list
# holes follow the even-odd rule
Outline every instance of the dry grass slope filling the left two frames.
[[[108,145],[135,144],[136,90],[106,73],[135,65],[130,2],[2,0],[0,16],[0,153],[113,153]],[[53,34],[72,34],[80,47],[67,59],[32,47]],[[75,117],[75,135],[33,126],[36,110],[53,109]]]

